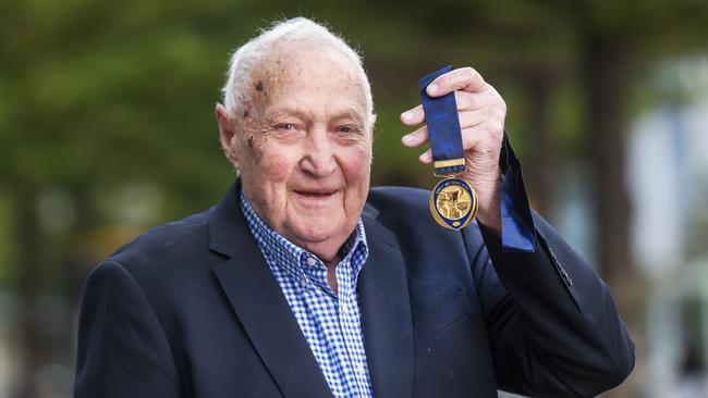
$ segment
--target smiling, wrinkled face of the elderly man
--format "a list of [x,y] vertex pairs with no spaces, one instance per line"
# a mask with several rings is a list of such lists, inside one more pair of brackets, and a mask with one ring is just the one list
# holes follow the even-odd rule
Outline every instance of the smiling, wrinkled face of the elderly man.
[[294,244],[337,250],[369,187],[373,116],[357,71],[328,48],[274,51],[253,70],[252,101],[232,115],[246,198]]

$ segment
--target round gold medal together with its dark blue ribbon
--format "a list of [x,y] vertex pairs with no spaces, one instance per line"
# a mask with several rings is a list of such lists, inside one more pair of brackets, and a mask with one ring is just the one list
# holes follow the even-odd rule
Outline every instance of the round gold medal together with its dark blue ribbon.
[[432,80],[450,71],[452,66],[447,66],[423,77],[419,89],[435,161],[435,175],[444,178],[430,192],[430,213],[438,224],[459,231],[477,214],[477,196],[466,181],[456,177],[465,171],[457,104],[454,92],[436,98],[426,92]]

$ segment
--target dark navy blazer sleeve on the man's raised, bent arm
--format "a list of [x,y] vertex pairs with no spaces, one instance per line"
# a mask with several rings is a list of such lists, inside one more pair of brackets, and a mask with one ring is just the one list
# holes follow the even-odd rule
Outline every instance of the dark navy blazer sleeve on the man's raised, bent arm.
[[606,284],[540,215],[533,216],[533,251],[502,250],[499,237],[480,227],[485,247],[471,256],[499,388],[595,396],[627,377],[634,344]]

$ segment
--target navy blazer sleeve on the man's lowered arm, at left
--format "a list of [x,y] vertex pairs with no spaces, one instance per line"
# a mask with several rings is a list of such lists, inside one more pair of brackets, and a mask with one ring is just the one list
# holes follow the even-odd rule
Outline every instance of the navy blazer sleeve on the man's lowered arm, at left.
[[182,397],[166,334],[143,289],[106,261],[84,287],[74,396]]

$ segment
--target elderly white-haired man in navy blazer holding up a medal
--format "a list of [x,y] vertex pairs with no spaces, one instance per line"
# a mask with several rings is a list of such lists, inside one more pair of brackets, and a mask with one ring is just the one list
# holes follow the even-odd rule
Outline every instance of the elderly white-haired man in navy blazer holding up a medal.
[[[76,396],[587,397],[621,383],[632,341],[605,284],[528,209],[504,102],[468,67],[425,89],[456,98],[479,201],[459,232],[434,223],[425,191],[369,190],[371,94],[344,41],[295,18],[240,48],[216,109],[240,176],[91,273]],[[426,127],[403,137],[427,141]]]

